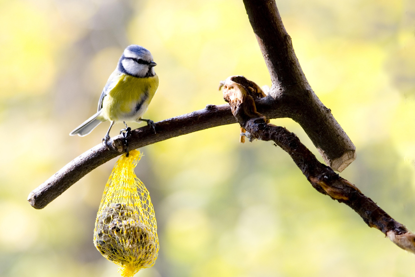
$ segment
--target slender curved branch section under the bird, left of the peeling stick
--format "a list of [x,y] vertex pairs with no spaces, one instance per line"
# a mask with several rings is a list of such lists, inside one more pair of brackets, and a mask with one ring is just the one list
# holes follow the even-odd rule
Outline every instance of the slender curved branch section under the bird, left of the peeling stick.
[[[205,109],[157,122],[156,134],[148,126],[133,130],[127,141],[129,149],[137,149],[176,136],[232,123],[236,121],[228,104],[207,105]],[[42,209],[87,173],[125,152],[122,136],[111,138],[110,144],[110,150],[100,143],[73,159],[33,190],[27,201],[33,208]]]

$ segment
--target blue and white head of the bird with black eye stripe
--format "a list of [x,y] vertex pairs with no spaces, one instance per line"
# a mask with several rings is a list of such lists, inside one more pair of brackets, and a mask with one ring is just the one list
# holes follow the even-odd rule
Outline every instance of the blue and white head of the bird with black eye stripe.
[[156,75],[154,72],[154,66],[156,65],[149,50],[132,44],[125,48],[122,53],[118,62],[118,69],[123,73],[144,78]]

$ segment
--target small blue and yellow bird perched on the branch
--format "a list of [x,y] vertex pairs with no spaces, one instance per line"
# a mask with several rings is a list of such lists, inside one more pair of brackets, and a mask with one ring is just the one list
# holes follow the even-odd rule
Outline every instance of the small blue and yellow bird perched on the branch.
[[110,128],[103,138],[103,143],[108,148],[110,130],[117,122],[124,121],[125,124],[125,121],[145,121],[155,133],[154,121],[143,119],[142,116],[159,87],[159,77],[154,72],[156,65],[146,48],[134,44],[127,46],[105,84],[98,101],[97,113],[69,135],[86,136],[101,122],[110,121]]

